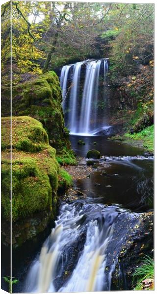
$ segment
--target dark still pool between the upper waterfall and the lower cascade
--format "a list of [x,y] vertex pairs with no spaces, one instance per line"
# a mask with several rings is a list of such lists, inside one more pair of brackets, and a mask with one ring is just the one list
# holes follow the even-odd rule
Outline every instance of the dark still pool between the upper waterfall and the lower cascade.
[[[86,145],[78,145],[78,140]],[[97,142],[97,145],[93,145]],[[101,171],[76,181],[76,185],[88,197],[89,202],[105,204],[118,203],[135,212],[153,208],[152,156],[146,156],[144,149],[132,147],[105,139],[104,137],[71,136],[71,144],[78,156],[86,156],[90,149],[97,149],[105,161],[96,160]],[[86,160],[82,165],[86,165]]]

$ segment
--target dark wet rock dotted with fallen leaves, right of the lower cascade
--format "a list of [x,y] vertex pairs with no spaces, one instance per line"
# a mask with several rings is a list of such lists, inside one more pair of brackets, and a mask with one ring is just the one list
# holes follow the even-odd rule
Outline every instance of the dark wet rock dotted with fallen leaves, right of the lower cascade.
[[[123,220],[122,223],[117,222],[115,224],[112,253],[109,255],[109,259],[117,259],[117,265],[112,273],[111,290],[133,289],[132,276],[134,270],[141,265],[141,257],[153,255],[153,218],[153,212],[146,212],[135,214],[133,219],[128,218]],[[123,235],[124,228],[128,230],[125,233],[125,238]],[[118,248],[116,240],[120,236],[123,236],[124,239]],[[122,271],[123,275],[121,275]]]

